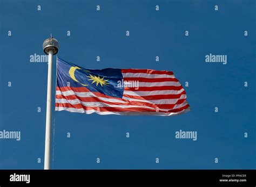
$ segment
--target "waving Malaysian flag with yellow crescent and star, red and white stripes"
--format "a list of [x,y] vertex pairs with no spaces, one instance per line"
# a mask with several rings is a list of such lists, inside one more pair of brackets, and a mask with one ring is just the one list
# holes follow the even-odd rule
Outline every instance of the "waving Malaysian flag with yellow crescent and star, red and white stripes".
[[190,105],[172,71],[86,69],[57,58],[55,110],[173,116]]

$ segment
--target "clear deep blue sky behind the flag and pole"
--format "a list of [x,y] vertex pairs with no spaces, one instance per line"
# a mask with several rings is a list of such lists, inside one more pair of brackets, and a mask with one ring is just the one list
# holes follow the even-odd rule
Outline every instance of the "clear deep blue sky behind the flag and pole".
[[[44,55],[50,33],[78,66],[173,71],[191,105],[174,117],[53,112],[53,169],[256,168],[255,1],[2,0],[0,17],[0,131],[21,131],[0,139],[0,169],[43,169],[48,66],[30,55]],[[227,64],[206,63],[210,53]],[[197,141],[176,139],[179,130]]]

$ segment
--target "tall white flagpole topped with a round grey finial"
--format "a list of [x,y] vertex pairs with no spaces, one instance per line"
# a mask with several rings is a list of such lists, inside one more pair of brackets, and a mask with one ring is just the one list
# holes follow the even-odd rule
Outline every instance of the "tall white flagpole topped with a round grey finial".
[[48,81],[46,102],[44,169],[51,167],[51,108],[52,108],[52,56],[58,53],[59,44],[55,38],[48,38],[43,43],[44,53],[48,54]]

